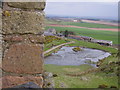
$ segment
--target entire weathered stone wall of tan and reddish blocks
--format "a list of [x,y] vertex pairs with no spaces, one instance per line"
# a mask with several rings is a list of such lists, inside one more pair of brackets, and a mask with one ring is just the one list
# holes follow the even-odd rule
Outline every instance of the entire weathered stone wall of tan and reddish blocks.
[[2,87],[43,86],[45,2],[6,2],[2,12]]

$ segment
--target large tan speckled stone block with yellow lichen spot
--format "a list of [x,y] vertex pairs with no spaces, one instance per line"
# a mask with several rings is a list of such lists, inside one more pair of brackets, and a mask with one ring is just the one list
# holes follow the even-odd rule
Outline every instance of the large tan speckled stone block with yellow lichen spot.
[[33,11],[4,11],[3,34],[43,34],[44,13]]

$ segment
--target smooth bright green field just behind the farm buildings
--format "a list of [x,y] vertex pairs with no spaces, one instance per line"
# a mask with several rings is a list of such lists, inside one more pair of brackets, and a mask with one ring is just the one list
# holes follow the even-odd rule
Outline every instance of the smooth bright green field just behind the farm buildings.
[[73,31],[76,35],[83,35],[83,36],[89,36],[94,39],[100,39],[100,40],[110,40],[113,41],[113,44],[118,44],[118,32],[113,31],[100,31],[100,30],[90,30],[90,29],[79,29],[79,28],[71,28],[71,27],[52,27],[47,26],[46,30],[48,28],[55,28],[57,31]]

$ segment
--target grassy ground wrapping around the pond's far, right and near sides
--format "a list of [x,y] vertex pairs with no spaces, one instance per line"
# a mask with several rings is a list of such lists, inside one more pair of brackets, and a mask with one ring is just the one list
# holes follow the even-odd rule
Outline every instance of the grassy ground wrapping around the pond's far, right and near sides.
[[[118,62],[116,57],[117,50],[107,46],[101,46],[99,44],[77,41],[69,39],[69,41],[76,41],[73,44],[67,46],[80,46],[88,48],[102,49],[113,53],[112,56],[101,60],[99,64],[100,68],[103,68],[99,72],[92,72],[85,75],[79,75],[80,72],[87,72],[94,67],[84,64],[80,66],[57,66],[57,65],[45,65],[47,72],[56,74],[54,77],[55,88],[116,88],[118,87],[118,76],[116,64],[109,65],[110,62]],[[57,41],[56,41],[57,42]],[[105,67],[109,67],[108,69]],[[111,71],[113,70],[113,71]],[[72,76],[74,75],[74,76]],[[105,86],[105,87],[104,87]]]

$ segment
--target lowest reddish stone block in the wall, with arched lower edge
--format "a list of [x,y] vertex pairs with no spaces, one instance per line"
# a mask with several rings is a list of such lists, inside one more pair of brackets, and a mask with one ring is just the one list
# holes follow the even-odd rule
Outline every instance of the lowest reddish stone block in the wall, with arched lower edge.
[[39,87],[43,86],[43,78],[36,76],[4,76],[2,77],[2,88],[11,88],[17,85],[33,82]]

